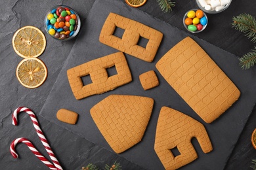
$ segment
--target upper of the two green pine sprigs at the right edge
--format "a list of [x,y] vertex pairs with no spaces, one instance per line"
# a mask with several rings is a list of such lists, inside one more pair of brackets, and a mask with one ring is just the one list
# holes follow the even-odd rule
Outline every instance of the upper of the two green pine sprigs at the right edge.
[[232,18],[232,27],[245,33],[245,36],[251,41],[256,42],[256,20],[250,14],[240,14]]

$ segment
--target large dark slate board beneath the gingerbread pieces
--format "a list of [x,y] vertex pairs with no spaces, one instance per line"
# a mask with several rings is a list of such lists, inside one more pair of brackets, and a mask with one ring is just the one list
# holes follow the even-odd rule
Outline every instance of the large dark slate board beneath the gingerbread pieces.
[[[98,41],[102,25],[110,12],[136,20],[154,29],[158,29],[158,31],[163,33],[163,41],[161,42],[156,58],[152,63],[125,54],[133,76],[132,82],[116,88],[116,90],[111,92],[90,96],[77,101],[70,89],[66,71],[72,67],[91,61],[92,59],[117,52],[114,48],[106,46]],[[182,18],[177,22],[182,22]],[[91,107],[110,94],[152,97],[155,100],[154,109],[142,141],[129,150],[119,154],[119,156],[133,161],[145,169],[163,169],[158,156],[156,156],[156,153],[154,152],[154,137],[160,109],[163,106],[167,106],[177,109],[184,114],[188,114],[192,118],[202,122],[207,129],[213,144],[213,151],[209,154],[203,154],[198,142],[193,139],[192,143],[198,152],[198,159],[181,169],[224,169],[224,165],[255,104],[254,96],[256,94],[256,89],[253,86],[253,76],[255,75],[253,71],[241,71],[236,56],[225,52],[221,48],[213,46],[202,39],[190,36],[198,42],[217,65],[223,69],[224,73],[226,73],[234,84],[236,84],[241,92],[240,99],[232,105],[230,109],[224,112],[223,116],[211,124],[205,124],[203,120],[188,107],[175,90],[163,80],[163,77],[155,67],[161,56],[177,44],[177,42],[188,36],[186,32],[157,20],[138,9],[133,9],[123,1],[97,0],[89,13],[87,20],[83,23],[78,36],[79,37],[77,37],[74,47],[64,63],[64,67],[62,68],[62,71],[60,71],[60,75],[58,75],[43,109],[39,113],[41,116],[95,144],[103,146],[108,150],[112,150],[91,118],[89,112]],[[160,86],[152,90],[144,91],[140,86],[139,75],[150,70],[156,71],[160,80]],[[58,109],[62,108],[73,110],[79,114],[79,120],[76,125],[64,124],[56,119],[56,112]]]

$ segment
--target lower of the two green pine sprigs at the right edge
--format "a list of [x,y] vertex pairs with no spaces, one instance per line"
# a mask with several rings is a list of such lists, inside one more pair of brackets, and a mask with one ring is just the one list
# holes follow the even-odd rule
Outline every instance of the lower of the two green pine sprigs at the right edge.
[[256,63],[256,46],[254,47],[254,50],[251,50],[251,52],[248,52],[242,58],[239,58],[239,61],[242,69],[253,67]]

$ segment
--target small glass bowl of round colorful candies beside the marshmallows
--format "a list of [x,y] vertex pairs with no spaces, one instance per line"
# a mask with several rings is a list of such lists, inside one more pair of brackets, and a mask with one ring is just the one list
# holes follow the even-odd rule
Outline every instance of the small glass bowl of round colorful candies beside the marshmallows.
[[184,14],[183,25],[191,33],[200,33],[207,26],[208,18],[203,10],[191,9]]

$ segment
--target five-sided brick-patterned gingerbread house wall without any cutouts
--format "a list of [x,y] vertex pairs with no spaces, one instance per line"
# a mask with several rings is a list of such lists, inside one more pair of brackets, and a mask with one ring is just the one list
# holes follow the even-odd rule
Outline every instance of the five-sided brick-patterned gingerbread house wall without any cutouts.
[[96,104],[91,116],[117,154],[142,140],[154,100],[136,95],[110,95]]

